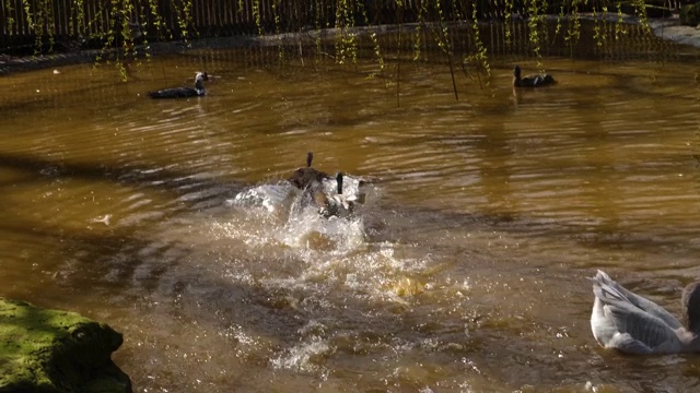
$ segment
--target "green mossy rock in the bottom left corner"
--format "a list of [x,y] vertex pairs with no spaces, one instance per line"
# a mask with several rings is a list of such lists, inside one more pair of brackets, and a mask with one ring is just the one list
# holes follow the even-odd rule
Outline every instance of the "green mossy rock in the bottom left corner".
[[0,298],[0,393],[130,393],[121,334],[74,312]]

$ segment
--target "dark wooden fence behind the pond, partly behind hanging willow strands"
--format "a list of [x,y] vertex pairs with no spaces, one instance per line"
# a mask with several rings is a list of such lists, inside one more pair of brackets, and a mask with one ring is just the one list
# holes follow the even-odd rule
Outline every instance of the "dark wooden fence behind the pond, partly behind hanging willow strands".
[[104,44],[129,28],[158,40],[392,24],[425,12],[429,20],[464,19],[474,7],[490,17],[517,12],[522,1],[443,1],[448,5],[440,9],[438,0],[401,0],[399,10],[397,0],[0,0],[0,50],[77,39]]

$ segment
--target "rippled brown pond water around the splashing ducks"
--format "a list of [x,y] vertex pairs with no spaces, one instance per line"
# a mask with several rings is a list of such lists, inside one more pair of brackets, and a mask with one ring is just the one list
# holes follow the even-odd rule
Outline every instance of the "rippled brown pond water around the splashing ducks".
[[[276,66],[249,49],[0,78],[0,296],[125,334],[135,392],[693,391],[697,356],[590,327],[604,269],[679,312],[700,276],[698,50]],[[209,95],[145,92],[217,75]],[[398,96],[397,96],[398,92]],[[295,209],[305,165],[369,180]]]

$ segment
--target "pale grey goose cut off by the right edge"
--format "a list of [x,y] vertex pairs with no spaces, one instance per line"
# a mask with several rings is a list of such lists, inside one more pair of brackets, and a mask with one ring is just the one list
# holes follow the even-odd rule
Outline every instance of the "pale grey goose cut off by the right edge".
[[627,354],[700,352],[700,282],[682,291],[688,326],[658,305],[635,295],[598,271],[593,281],[593,336],[602,346]]

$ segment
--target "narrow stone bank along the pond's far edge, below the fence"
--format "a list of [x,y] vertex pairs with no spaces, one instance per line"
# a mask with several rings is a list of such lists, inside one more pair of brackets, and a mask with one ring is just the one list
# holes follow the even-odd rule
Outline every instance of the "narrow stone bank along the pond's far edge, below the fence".
[[[618,13],[586,13],[573,16],[561,15],[541,15],[541,20],[556,23],[576,23],[576,20],[604,21],[610,23],[623,23],[627,25],[649,26],[656,37],[700,48],[700,29],[684,25],[677,14],[660,19],[646,19],[641,21],[635,15],[620,15]],[[436,24],[436,22],[434,23]],[[480,22],[479,24],[490,24],[490,22]],[[132,59],[142,59],[151,56],[162,56],[184,52],[197,49],[226,49],[226,48],[247,48],[247,47],[269,47],[289,45],[290,43],[306,41],[313,45],[314,41],[324,40],[332,43],[332,40],[345,39],[349,35],[362,36],[366,35],[375,40],[377,35],[390,34],[401,29],[406,33],[412,33],[421,28],[425,28],[431,24],[427,23],[406,23],[395,25],[378,26],[357,26],[357,27],[329,27],[307,29],[299,33],[279,33],[266,35],[240,35],[230,37],[210,37],[195,38],[189,40],[156,41],[135,46],[135,50],[129,56],[125,56],[119,49],[68,49],[57,53],[34,53],[30,56],[11,56],[0,52],[0,75],[14,72],[31,71],[37,69],[46,69],[75,63],[103,63],[103,62],[124,62]],[[457,21],[444,23],[433,26],[433,28],[446,28],[448,26],[460,25],[469,28],[470,21]],[[616,39],[607,37],[606,39]],[[316,43],[316,44],[317,44]],[[375,41],[376,44],[376,41]],[[541,45],[541,44],[539,44]],[[378,48],[377,48],[378,50]],[[378,53],[377,53],[378,55]],[[486,56],[489,53],[487,52]],[[539,57],[538,53],[534,53]]]

